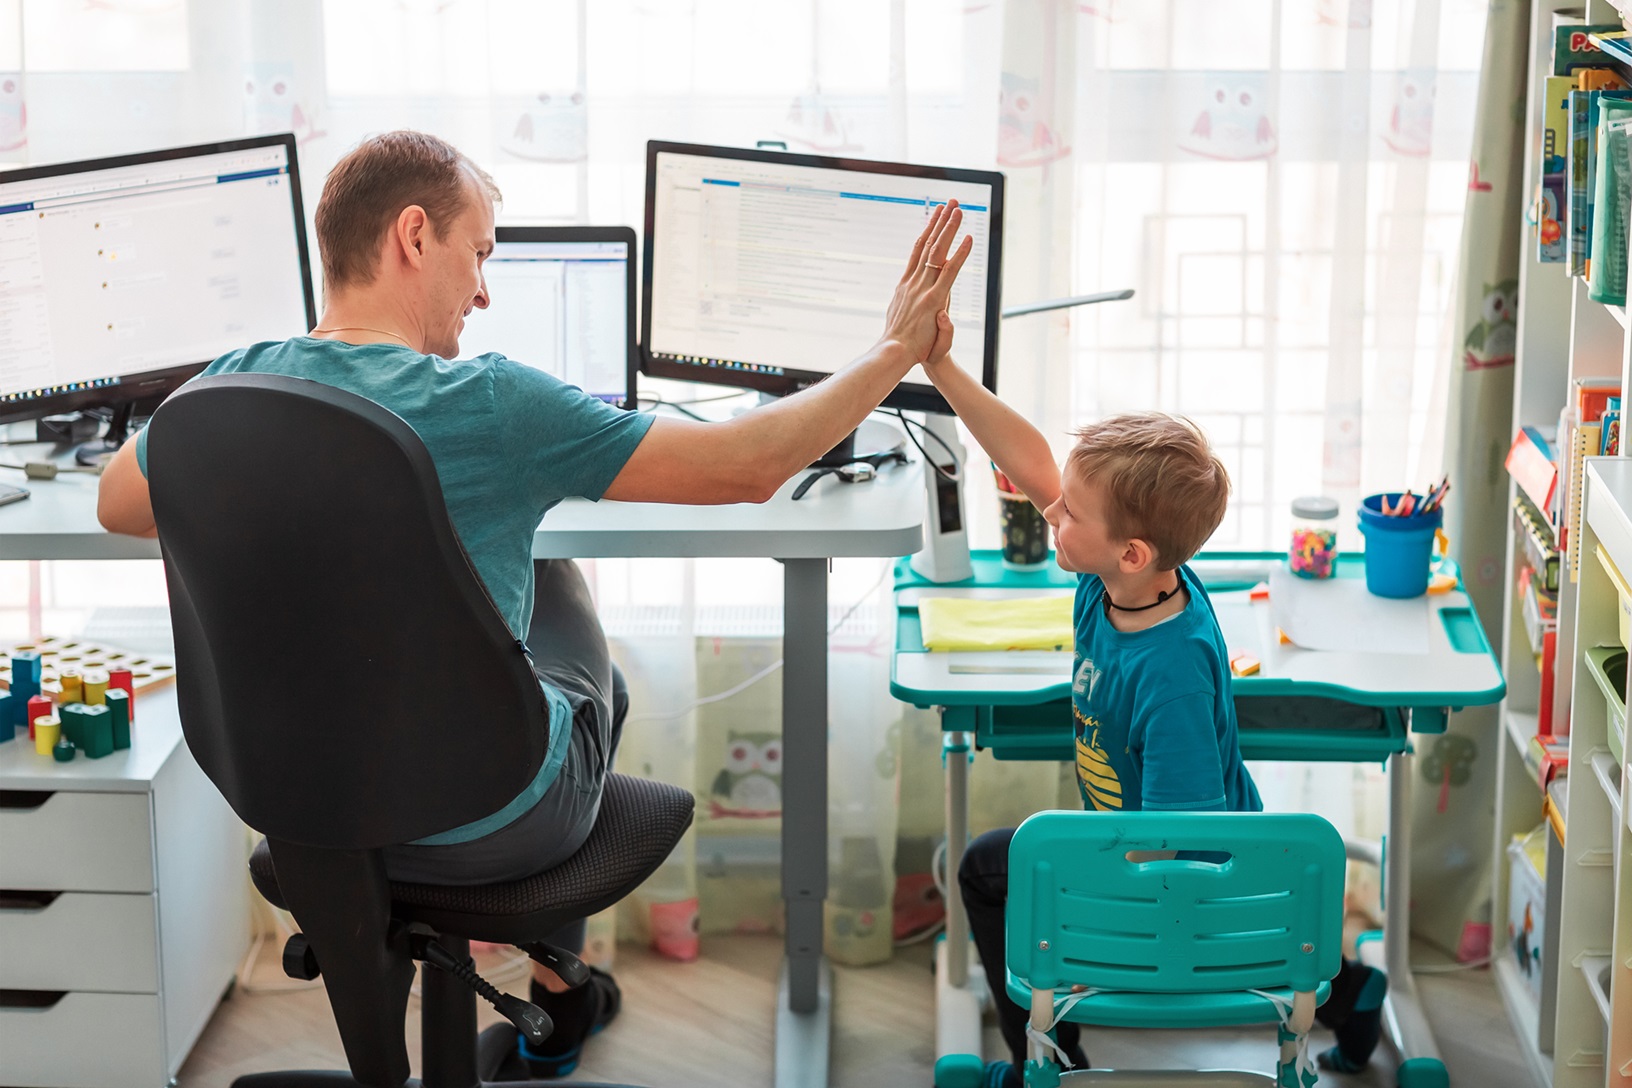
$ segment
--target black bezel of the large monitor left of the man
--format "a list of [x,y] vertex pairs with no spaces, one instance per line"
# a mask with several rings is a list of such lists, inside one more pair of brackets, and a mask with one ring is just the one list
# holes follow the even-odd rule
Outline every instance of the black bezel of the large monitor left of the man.
[[[24,166],[0,173],[0,183],[38,181],[41,178],[59,178],[65,175],[91,173],[96,170],[119,170],[122,166],[144,166],[173,158],[196,158],[201,155],[220,155],[227,152],[245,152],[256,147],[281,145],[289,160],[289,192],[290,210],[294,214],[295,241],[300,254],[300,290],[305,302],[307,329],[317,326],[317,302],[312,290],[312,256],[307,245],[305,202],[300,192],[300,165],[295,157],[295,137],[292,132],[269,135],[251,135],[238,140],[217,140],[214,144],[191,144],[188,147],[166,147],[155,152],[137,152],[131,155],[109,155],[106,158],[80,158],[67,163],[47,163],[41,166]],[[131,403],[140,408],[157,406],[170,393],[176,391],[188,378],[196,377],[214,359],[188,360],[157,370],[140,370],[119,377],[118,385],[101,385],[88,390],[65,390],[47,393],[29,400],[0,401],[0,424],[21,419],[39,419],[85,408],[108,408]]]

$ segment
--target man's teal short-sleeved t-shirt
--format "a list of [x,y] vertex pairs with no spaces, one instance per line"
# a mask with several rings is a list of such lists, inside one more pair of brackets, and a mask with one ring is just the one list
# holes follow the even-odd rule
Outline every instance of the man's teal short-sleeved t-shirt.
[[[493,604],[516,633],[532,621],[532,535],[565,498],[599,499],[651,426],[574,385],[488,354],[470,360],[421,356],[400,344],[344,344],[297,336],[230,351],[202,375],[286,374],[366,396],[401,416],[436,462],[454,532]],[[147,475],[147,432],[135,439]],[[566,698],[542,683],[550,747],[537,778],[475,824],[419,840],[470,842],[512,822],[555,781],[571,736]]]

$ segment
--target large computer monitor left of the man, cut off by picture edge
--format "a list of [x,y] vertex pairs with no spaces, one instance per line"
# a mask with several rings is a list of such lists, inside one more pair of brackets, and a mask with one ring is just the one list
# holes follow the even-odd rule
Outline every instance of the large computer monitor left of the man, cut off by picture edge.
[[294,135],[0,175],[0,422],[157,405],[317,325]]

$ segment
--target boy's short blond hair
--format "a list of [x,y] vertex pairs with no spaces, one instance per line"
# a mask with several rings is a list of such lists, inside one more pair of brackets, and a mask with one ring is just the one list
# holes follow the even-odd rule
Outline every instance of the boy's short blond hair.
[[1075,437],[1066,470],[1103,484],[1111,535],[1149,543],[1157,569],[1190,559],[1224,520],[1229,473],[1201,427],[1183,416],[1111,416]]

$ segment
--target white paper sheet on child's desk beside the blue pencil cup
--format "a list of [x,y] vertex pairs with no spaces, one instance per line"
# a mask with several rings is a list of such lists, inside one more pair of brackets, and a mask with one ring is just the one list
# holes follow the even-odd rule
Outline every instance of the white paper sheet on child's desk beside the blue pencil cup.
[[1374,597],[1361,577],[1270,574],[1275,625],[1294,646],[1361,654],[1426,654],[1428,599]]

